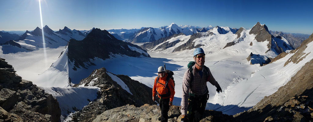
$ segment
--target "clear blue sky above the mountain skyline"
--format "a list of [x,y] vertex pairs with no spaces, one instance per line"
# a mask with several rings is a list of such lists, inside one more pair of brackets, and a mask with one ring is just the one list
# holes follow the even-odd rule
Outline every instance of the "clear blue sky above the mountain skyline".
[[[312,1],[41,0],[43,24],[52,30],[192,25],[251,28],[312,34]],[[34,30],[40,25],[38,0],[0,1],[0,30]]]

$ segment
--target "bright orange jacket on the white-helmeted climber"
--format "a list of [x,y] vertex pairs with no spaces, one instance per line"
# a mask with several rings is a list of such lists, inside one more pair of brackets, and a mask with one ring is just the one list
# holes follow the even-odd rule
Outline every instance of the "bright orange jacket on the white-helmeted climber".
[[[154,79],[154,85],[153,85],[153,89],[152,89],[152,96],[156,96],[156,92],[158,92],[161,95],[167,94],[169,91],[168,89],[165,87],[165,81],[166,81],[166,77],[167,77],[167,73],[165,73],[164,77],[160,77],[159,81],[160,83],[156,83],[156,79],[157,77]],[[170,101],[173,102],[173,98],[175,95],[175,90],[174,90],[174,82],[172,79],[170,79],[167,83],[168,88],[170,89],[170,96],[169,97],[162,97],[162,98],[170,98]],[[161,98],[160,95],[158,95],[159,98]]]

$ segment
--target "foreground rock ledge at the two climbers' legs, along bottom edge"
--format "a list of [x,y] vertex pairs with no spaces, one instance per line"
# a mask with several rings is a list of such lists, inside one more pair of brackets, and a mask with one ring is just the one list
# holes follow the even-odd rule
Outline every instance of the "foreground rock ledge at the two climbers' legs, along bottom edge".
[[[115,109],[107,110],[98,115],[93,122],[159,122],[158,117],[161,116],[160,107],[157,105],[145,104],[141,107],[134,105],[125,105]],[[169,122],[180,122],[182,115],[180,106],[173,105],[168,111]],[[224,115],[220,111],[205,110],[203,119],[200,122],[239,122],[230,115]]]

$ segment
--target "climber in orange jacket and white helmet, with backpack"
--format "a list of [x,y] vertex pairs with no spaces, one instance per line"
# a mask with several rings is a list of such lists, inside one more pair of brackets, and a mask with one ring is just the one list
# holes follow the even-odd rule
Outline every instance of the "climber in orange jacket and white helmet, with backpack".
[[168,75],[163,66],[158,68],[158,74],[159,76],[154,80],[152,100],[156,101],[155,96],[158,95],[161,108],[161,117],[159,117],[159,120],[161,120],[161,122],[167,122],[167,112],[170,106],[173,105],[173,98],[175,95],[174,82],[170,77],[167,77]]

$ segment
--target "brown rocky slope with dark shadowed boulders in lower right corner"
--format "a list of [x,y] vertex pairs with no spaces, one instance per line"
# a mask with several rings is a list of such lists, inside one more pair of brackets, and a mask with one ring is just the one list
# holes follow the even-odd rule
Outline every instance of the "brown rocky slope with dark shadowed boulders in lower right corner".
[[234,117],[247,122],[313,121],[313,60],[307,62],[291,80],[274,94],[265,96],[246,112]]

